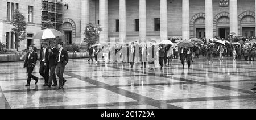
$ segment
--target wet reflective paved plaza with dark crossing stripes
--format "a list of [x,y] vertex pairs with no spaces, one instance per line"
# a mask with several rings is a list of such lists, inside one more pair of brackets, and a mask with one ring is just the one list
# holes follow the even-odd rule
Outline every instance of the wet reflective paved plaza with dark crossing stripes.
[[256,108],[256,63],[196,59],[191,69],[180,61],[160,71],[134,69],[127,63],[96,65],[87,59],[70,60],[64,73],[64,89],[44,87],[39,65],[25,87],[22,62],[0,63],[0,108]]

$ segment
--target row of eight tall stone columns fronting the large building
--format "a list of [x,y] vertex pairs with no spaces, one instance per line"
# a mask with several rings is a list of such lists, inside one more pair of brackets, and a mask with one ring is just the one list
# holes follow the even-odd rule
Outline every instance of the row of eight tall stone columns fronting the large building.
[[[82,0],[82,4],[89,6],[89,0]],[[205,34],[206,39],[213,38],[213,0],[205,0]],[[100,3],[100,25],[102,31],[100,32],[100,42],[108,41],[108,0],[99,0]],[[256,3],[255,3],[256,6]],[[238,34],[238,20],[237,20],[237,0],[230,0],[230,33]],[[255,8],[256,10],[256,8]],[[82,9],[86,12],[82,18],[89,18],[89,9]],[[168,23],[167,23],[167,0],[160,0],[160,39],[168,38]],[[190,16],[189,16],[189,0],[182,0],[182,37],[189,40],[190,38]],[[89,20],[85,20],[89,23]],[[82,24],[85,24],[82,22]],[[139,0],[139,39],[140,42],[146,42],[147,34],[147,20],[146,20],[146,0]],[[83,28],[83,27],[82,27]],[[84,27],[85,28],[85,27]],[[120,42],[126,40],[126,0],[119,0],[119,39]]]

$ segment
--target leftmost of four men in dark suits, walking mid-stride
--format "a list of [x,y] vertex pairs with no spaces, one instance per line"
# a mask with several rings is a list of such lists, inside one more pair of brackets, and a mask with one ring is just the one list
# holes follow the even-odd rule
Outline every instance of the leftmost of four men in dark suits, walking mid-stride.
[[32,45],[29,47],[29,51],[30,52],[27,53],[26,60],[24,61],[24,68],[27,68],[27,85],[25,86],[30,86],[31,78],[35,80],[35,84],[38,83],[38,77],[32,75],[37,60],[37,56],[36,53],[33,51]]

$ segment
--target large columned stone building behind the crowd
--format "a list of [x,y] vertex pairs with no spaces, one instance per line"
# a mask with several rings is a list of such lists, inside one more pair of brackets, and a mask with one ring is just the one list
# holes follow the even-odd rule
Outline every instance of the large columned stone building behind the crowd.
[[86,24],[100,24],[101,42],[172,37],[255,36],[255,0],[63,0],[63,29],[80,44]]

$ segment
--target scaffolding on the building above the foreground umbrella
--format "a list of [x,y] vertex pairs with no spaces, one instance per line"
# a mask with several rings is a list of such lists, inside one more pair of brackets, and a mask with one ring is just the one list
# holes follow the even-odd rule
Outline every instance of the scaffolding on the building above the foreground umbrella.
[[52,22],[56,30],[62,30],[63,2],[62,0],[42,0],[42,25]]

